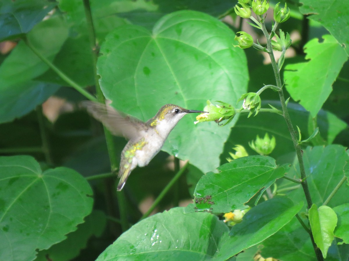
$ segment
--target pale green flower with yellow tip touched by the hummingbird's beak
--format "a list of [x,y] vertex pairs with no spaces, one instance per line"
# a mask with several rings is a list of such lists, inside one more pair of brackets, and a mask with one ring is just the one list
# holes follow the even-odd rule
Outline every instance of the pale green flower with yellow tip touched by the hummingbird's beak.
[[228,103],[221,101],[217,102],[221,103],[221,105],[213,105],[209,100],[207,100],[207,106],[203,109],[207,112],[196,116],[194,124],[204,121],[215,121],[218,123],[226,119],[232,120],[236,114],[235,108]]

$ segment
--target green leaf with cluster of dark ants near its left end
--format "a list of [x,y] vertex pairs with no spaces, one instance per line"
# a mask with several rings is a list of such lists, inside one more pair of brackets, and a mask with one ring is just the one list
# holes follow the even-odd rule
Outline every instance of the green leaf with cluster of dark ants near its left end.
[[194,192],[195,208],[189,205],[186,211],[220,213],[246,208],[244,203],[259,191],[260,197],[288,168],[277,167],[275,159],[266,156],[235,159],[218,167],[219,173],[208,172],[201,177]]

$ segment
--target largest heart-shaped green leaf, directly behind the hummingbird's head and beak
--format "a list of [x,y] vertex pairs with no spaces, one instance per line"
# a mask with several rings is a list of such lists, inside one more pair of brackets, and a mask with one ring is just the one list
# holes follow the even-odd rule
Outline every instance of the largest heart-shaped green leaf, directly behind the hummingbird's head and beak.
[[[97,63],[103,93],[116,109],[142,120],[166,103],[192,110],[202,110],[208,98],[235,104],[246,92],[248,75],[233,38],[223,23],[195,11],[164,16],[152,33],[134,25],[118,27],[107,36]],[[194,120],[185,116],[163,150],[189,159],[201,171],[213,170],[230,130],[214,122],[194,125]]]

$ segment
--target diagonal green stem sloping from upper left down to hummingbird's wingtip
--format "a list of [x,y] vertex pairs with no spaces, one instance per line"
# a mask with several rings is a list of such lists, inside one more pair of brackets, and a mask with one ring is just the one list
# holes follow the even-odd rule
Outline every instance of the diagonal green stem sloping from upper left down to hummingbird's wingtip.
[[24,42],[27,46],[35,53],[49,68],[51,68],[55,73],[58,74],[59,77],[62,78],[68,85],[72,86],[75,90],[81,93],[83,96],[88,98],[91,101],[96,101],[96,97],[91,95],[87,90],[77,84],[75,81],[70,79],[64,72],[62,72],[59,68],[57,68],[53,63],[46,59],[28,40],[27,37],[24,37]]

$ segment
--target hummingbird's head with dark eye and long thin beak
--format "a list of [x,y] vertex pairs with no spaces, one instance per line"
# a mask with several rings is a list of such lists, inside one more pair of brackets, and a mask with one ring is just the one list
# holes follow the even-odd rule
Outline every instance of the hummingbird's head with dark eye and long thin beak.
[[149,120],[150,126],[156,126],[159,132],[168,133],[176,126],[178,121],[188,113],[204,113],[204,111],[187,110],[178,105],[166,104]]

